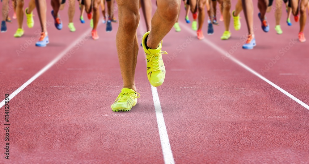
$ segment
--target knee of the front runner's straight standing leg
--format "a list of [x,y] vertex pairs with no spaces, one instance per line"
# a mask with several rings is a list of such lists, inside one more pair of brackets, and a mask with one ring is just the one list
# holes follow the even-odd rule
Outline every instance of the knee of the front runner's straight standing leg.
[[119,17],[119,26],[126,33],[135,33],[138,27],[140,15],[139,13],[131,12],[129,14],[124,14]]

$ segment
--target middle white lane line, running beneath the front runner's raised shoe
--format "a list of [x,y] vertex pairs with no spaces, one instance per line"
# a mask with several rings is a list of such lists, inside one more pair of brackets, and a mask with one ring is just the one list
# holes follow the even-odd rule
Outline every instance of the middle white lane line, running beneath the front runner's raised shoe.
[[[142,26],[146,26],[146,25],[144,25],[144,24],[139,25],[140,34],[142,34],[143,30],[144,30]],[[138,39],[142,40],[142,38],[138,38]],[[138,45],[139,45],[139,43],[138,43]],[[145,58],[146,58],[146,56],[145,56]],[[162,108],[161,108],[157,88],[154,87],[154,86],[151,86],[151,92],[152,92],[152,98],[154,100],[155,115],[156,115],[156,118],[157,118],[157,124],[158,124],[158,129],[159,129],[159,136],[160,136],[160,141],[161,141],[164,163],[165,164],[174,164],[175,161],[174,161],[173,153],[172,153],[172,150],[171,150],[170,140],[168,139],[168,134],[167,134],[164,118],[163,118],[163,113],[162,113]]]

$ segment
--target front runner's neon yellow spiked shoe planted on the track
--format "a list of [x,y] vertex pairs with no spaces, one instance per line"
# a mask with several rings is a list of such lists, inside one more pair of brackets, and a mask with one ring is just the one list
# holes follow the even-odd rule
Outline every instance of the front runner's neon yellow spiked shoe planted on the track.
[[129,111],[137,103],[140,94],[129,88],[122,88],[120,94],[112,104],[114,112]]

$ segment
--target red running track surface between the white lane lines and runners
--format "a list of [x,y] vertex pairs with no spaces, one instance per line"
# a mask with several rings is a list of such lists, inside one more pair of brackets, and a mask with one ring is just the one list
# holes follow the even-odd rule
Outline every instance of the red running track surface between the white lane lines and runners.
[[[37,16],[33,29],[24,25],[26,32],[22,38],[13,38],[16,20],[7,25],[6,33],[1,33],[3,98],[89,32],[89,21],[80,24],[78,10],[74,19],[76,32],[67,28],[66,11],[60,12],[63,29],[56,30],[50,10],[50,44],[45,48],[34,45],[38,40],[35,31],[40,29]],[[157,88],[175,162],[309,163],[309,111],[229,58],[223,60],[222,54],[210,45],[198,41],[187,30],[191,25],[184,23],[183,6],[181,12],[182,31],[176,33],[172,29],[163,39],[163,50],[168,52],[163,55],[167,74],[164,84]],[[285,23],[286,13],[282,15],[282,35],[274,30],[273,12],[267,14],[269,33],[260,29],[260,22],[254,17],[257,46],[253,50],[238,47],[232,56],[309,104],[308,42],[297,41],[298,23],[292,22],[289,27]],[[205,38],[225,51],[238,43],[242,45],[239,37],[246,35],[247,30],[243,13],[241,17],[241,30],[235,31],[231,22],[230,40],[220,40],[223,22],[214,27],[214,35],[206,34],[205,24]],[[141,17],[139,38],[144,29]],[[116,31],[117,24],[113,24],[111,33],[106,33],[101,24],[99,40],[79,41],[81,46],[72,48],[74,54],[70,58],[64,63],[58,61],[10,101],[10,160],[4,159],[2,153],[1,163],[164,162],[141,48],[135,78],[141,94],[138,105],[129,112],[115,113],[110,109],[122,86]],[[18,56],[16,50],[31,37],[35,40]],[[190,37],[193,41],[180,52],[178,46]],[[290,39],[296,42],[282,56],[279,50],[288,46]],[[177,56],[173,57],[173,53]],[[263,74],[261,69],[276,55],[280,59]],[[4,114],[1,122],[5,123]],[[4,130],[1,134],[5,136]],[[4,140],[1,145],[5,146]]]

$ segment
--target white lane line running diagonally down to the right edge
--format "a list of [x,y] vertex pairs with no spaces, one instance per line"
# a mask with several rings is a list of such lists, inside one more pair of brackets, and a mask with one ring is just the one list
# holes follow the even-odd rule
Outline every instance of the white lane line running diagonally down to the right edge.
[[[193,31],[192,29],[190,29],[189,27],[187,27],[187,25],[185,25],[182,22],[179,22],[179,24],[181,24],[181,27],[184,28],[185,30],[187,30],[188,32],[190,32],[191,34],[193,34],[194,36],[196,35],[195,31]],[[209,46],[211,46],[212,48],[214,48],[215,50],[217,50],[219,53],[221,53],[222,55],[226,55],[226,51],[224,51],[222,48],[220,48],[219,46],[217,46],[216,44],[214,44],[213,42],[211,42],[210,40],[204,38],[203,40],[201,40],[202,42],[208,44]],[[249,50],[248,50],[249,51]],[[264,76],[260,75],[259,73],[257,73],[255,70],[253,70],[252,68],[248,67],[247,65],[243,64],[242,62],[240,62],[238,59],[234,58],[233,56],[229,57],[233,62],[235,62],[236,64],[238,64],[239,66],[243,67],[244,69],[248,70],[249,72],[251,72],[252,74],[256,75],[257,77],[259,77],[260,79],[264,80],[265,82],[267,82],[268,84],[270,84],[271,86],[275,87],[277,90],[281,91],[283,94],[287,95],[288,97],[292,98],[294,101],[296,101],[298,104],[300,104],[301,106],[305,107],[306,109],[309,110],[309,106],[307,104],[305,104],[304,102],[300,101],[298,98],[294,97],[292,94],[288,93],[287,91],[283,90],[282,88],[280,88],[279,86],[277,86],[276,84],[274,84],[273,82],[269,81],[267,78],[265,78]]]

